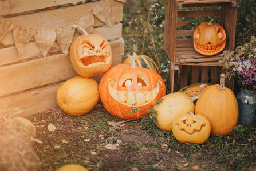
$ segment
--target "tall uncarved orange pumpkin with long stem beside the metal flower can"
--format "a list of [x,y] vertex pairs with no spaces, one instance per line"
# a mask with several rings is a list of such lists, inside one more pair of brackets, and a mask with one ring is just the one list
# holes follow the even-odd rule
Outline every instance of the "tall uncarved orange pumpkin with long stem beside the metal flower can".
[[212,135],[228,135],[238,121],[237,100],[224,82],[222,74],[220,85],[207,87],[195,105],[195,114],[201,114],[210,121]]

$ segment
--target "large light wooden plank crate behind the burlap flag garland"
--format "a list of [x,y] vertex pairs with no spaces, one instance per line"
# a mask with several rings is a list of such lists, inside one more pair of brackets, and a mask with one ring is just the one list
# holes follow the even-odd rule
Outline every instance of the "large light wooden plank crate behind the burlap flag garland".
[[[109,40],[113,52],[112,66],[121,63],[124,53],[122,35],[123,2],[107,0],[110,3],[111,27],[94,16],[93,32]],[[12,2],[13,4],[11,4]],[[22,3],[21,3],[22,2]],[[0,1],[2,18],[10,22],[44,28],[47,25],[59,25],[62,22],[74,22],[88,13],[101,1]],[[2,20],[3,21],[3,20]],[[0,30],[1,32],[2,30]],[[1,34],[0,34],[1,35]],[[74,32],[72,41],[80,36]],[[22,116],[30,116],[57,107],[56,92],[66,80],[77,76],[70,62],[70,56],[64,55],[58,43],[54,42],[48,54],[42,56],[34,40],[25,45],[23,55],[19,56],[15,47],[13,32],[10,31],[1,40],[0,49],[0,106],[19,107]],[[99,80],[102,75],[94,76]]]

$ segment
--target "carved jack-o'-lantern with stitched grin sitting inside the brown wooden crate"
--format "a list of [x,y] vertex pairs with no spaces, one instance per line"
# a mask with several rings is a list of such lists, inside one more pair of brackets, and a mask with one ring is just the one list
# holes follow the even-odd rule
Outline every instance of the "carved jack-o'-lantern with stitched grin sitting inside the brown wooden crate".
[[203,22],[193,35],[195,50],[202,55],[219,54],[226,45],[226,32],[218,23]]

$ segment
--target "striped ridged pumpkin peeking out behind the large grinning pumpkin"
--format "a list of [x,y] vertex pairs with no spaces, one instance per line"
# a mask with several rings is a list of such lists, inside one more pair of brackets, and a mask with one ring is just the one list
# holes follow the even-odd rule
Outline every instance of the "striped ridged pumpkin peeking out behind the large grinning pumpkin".
[[[149,70],[156,71],[157,74],[161,75],[159,68],[157,67],[157,64],[153,61],[153,59],[149,58],[146,55],[136,55],[135,52],[132,54],[132,58],[135,60],[137,66],[148,68]],[[127,58],[124,60],[123,63],[132,63],[132,60],[130,58]]]

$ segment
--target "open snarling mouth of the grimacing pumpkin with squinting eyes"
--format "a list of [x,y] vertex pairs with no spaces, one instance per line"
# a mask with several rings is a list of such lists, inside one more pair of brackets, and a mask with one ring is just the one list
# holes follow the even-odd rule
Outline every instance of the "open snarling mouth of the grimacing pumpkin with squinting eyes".
[[84,52],[78,58],[86,67],[94,66],[96,64],[108,64],[111,60],[109,53],[103,55],[93,55],[89,52]]

